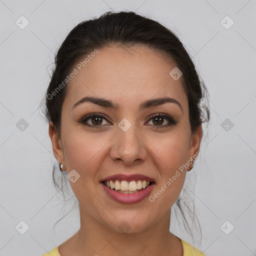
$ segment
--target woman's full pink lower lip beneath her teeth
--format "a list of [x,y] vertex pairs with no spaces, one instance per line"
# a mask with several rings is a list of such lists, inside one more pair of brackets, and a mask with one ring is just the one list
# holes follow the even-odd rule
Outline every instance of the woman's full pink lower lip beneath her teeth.
[[145,197],[149,195],[149,193],[152,191],[154,183],[149,185],[143,190],[140,190],[137,193],[134,194],[123,194],[119,193],[114,189],[109,188],[108,186],[104,185],[104,183],[100,182],[100,184],[105,189],[106,193],[115,201],[122,202],[122,203],[136,203],[141,200],[143,200]]

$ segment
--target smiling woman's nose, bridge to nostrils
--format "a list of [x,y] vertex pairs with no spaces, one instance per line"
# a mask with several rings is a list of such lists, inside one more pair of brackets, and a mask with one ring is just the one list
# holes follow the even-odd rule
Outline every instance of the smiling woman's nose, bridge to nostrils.
[[111,139],[110,157],[113,161],[122,161],[125,165],[134,165],[146,158],[146,145],[135,125],[123,131],[117,128],[116,135]]

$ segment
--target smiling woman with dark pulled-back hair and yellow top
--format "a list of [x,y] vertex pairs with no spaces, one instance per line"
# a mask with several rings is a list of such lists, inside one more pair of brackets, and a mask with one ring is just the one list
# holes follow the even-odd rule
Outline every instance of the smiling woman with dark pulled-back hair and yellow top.
[[107,12],[70,31],[55,65],[46,117],[80,229],[48,253],[204,255],[169,232],[209,120],[199,104],[206,88],[179,39],[134,12]]

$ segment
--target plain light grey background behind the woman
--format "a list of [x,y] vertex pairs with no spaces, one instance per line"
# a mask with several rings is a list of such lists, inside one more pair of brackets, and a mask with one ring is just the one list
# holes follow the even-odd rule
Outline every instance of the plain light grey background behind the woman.
[[[0,0],[0,255],[42,255],[79,228],[76,210],[53,228],[70,202],[53,187],[56,161],[38,106],[67,33],[111,9],[136,10],[171,28],[210,94],[208,137],[187,174],[196,173],[202,241],[193,242],[175,219],[170,230],[207,256],[256,255],[255,0]],[[29,21],[24,29],[15,23],[21,15]],[[234,21],[228,29],[226,15]],[[15,228],[21,220],[29,226],[24,234]]]

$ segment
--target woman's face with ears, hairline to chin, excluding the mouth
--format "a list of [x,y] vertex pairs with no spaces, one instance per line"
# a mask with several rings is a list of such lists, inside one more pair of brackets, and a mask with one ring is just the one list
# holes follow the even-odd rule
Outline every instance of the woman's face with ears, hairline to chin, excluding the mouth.
[[[118,232],[123,221],[130,232],[146,229],[168,215],[185,178],[186,169],[180,171],[180,166],[199,150],[201,129],[190,132],[181,77],[173,79],[169,74],[176,65],[142,47],[100,49],[81,70],[76,65],[78,73],[66,85],[61,137],[52,127],[49,134],[62,169],[72,170],[69,176],[75,176],[70,185],[79,201],[80,217],[90,216]],[[89,101],[74,106],[85,96],[103,98],[118,107]],[[165,102],[140,108],[147,100],[163,97],[180,105]],[[84,120],[91,113],[95,116]],[[152,178],[151,192],[133,203],[112,199],[100,181],[120,173]]]

